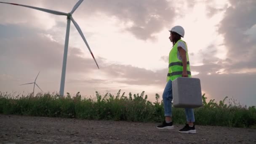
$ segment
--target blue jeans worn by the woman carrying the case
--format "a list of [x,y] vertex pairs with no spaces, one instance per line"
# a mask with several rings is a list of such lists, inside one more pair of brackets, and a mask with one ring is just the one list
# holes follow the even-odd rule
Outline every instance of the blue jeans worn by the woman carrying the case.
[[[173,91],[172,91],[172,81],[169,80],[163,91],[163,105],[165,110],[165,116],[172,116],[172,100],[173,100]],[[194,111],[191,108],[185,108],[185,114],[187,122],[195,122]]]

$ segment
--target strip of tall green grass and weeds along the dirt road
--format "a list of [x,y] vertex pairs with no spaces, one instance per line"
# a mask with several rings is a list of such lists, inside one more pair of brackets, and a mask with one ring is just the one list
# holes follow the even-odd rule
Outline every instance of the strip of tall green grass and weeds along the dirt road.
[[[256,128],[256,107],[242,106],[235,99],[227,97],[217,103],[214,99],[206,101],[203,107],[194,109],[197,125],[218,125],[229,127]],[[75,96],[67,93],[61,98],[58,94],[37,93],[12,96],[0,92],[0,113],[5,115],[31,115],[46,117],[70,117],[91,120],[125,120],[134,122],[161,122],[164,119],[163,100],[155,94],[155,102],[147,100],[147,95],[129,93],[119,90],[116,95],[107,93],[101,96],[96,92],[96,99],[82,98],[78,92]],[[184,109],[173,107],[173,121],[186,123]]]

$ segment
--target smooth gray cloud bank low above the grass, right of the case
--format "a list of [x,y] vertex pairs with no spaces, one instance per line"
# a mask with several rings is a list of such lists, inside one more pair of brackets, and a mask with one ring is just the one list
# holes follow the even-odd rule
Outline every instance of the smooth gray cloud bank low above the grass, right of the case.
[[193,77],[200,78],[202,90],[209,99],[223,100],[225,96],[234,98],[240,104],[255,105],[256,74],[199,74]]

